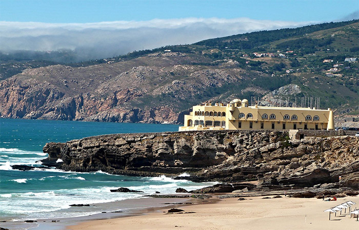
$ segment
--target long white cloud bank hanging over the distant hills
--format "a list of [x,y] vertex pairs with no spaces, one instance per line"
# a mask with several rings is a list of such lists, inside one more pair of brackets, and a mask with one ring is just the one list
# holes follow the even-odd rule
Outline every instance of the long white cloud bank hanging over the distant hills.
[[250,18],[180,18],[85,24],[0,21],[1,51],[76,50],[83,58],[105,58],[164,45],[260,30],[295,28],[311,22]]

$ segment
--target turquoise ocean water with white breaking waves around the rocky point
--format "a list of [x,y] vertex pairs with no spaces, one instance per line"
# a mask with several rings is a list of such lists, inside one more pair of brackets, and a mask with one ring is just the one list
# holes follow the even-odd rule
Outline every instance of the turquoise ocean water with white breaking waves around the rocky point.
[[[11,165],[39,166],[47,157],[42,152],[47,142],[66,142],[86,136],[110,133],[177,131],[178,125],[95,123],[0,119],[0,220],[25,220],[92,215],[117,211],[96,208],[78,209],[70,204],[98,204],[146,194],[174,193],[182,187],[203,188],[212,183],[174,180],[165,176],[131,177],[66,172],[57,169],[12,170]],[[186,174],[185,174],[186,175]],[[127,187],[145,193],[111,193]],[[100,206],[100,205],[97,205]],[[108,208],[107,208],[108,209]]]

